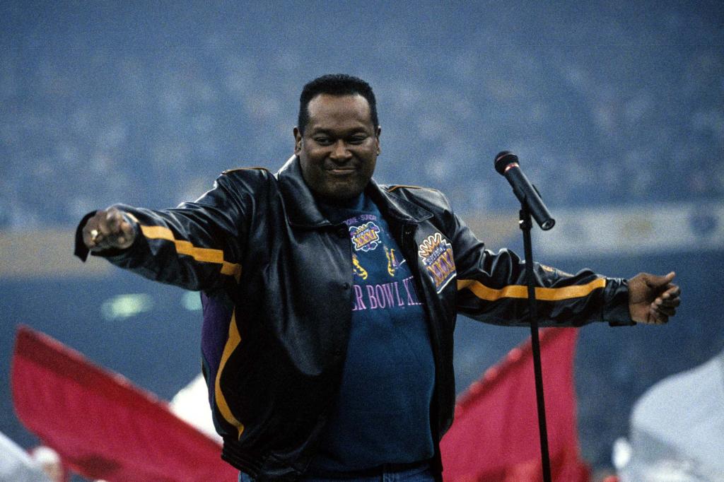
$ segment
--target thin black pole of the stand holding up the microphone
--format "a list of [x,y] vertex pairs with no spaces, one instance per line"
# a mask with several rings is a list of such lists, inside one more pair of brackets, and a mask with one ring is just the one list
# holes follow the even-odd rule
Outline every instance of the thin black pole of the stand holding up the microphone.
[[533,371],[536,379],[536,400],[538,402],[538,428],[541,439],[541,462],[543,482],[551,482],[550,455],[548,454],[548,431],[545,423],[545,400],[543,398],[543,371],[541,368],[541,347],[538,338],[538,310],[536,308],[536,282],[533,274],[533,248],[531,246],[531,213],[521,204],[523,250],[526,255],[526,283],[528,284],[528,313],[531,324],[531,347],[533,349]]

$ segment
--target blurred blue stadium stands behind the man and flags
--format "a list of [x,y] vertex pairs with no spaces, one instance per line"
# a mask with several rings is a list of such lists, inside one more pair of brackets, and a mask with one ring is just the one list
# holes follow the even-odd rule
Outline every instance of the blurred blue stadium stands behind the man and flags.
[[[82,266],[75,224],[114,202],[175,206],[224,169],[276,169],[301,85],[348,72],[378,97],[379,182],[438,188],[490,248],[522,252],[492,169],[510,149],[559,221],[534,232],[536,259],[678,272],[669,326],[581,331],[581,448],[610,465],[635,399],[724,347],[724,7],[543,5],[4,2],[0,431],[35,444],[9,397],[17,324],[166,399],[198,373],[197,297]],[[460,320],[458,391],[527,334]]]

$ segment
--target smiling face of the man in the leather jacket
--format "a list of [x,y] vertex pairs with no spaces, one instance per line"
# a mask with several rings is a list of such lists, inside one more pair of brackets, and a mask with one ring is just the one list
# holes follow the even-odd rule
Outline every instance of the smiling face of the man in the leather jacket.
[[320,94],[307,106],[304,135],[294,128],[294,153],[314,193],[348,199],[362,193],[379,154],[380,128],[372,124],[367,99]]

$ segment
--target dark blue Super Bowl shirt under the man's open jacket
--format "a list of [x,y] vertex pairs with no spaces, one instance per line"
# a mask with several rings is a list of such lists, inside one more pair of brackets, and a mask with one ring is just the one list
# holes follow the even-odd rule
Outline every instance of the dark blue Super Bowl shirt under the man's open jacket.
[[311,472],[429,459],[435,367],[408,262],[365,195],[320,207],[348,227],[355,282],[342,386]]

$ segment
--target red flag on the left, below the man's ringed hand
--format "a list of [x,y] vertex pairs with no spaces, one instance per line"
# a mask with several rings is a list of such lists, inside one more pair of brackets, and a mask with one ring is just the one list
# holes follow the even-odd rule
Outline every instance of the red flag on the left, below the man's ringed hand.
[[20,327],[11,372],[18,418],[75,472],[107,481],[236,481],[221,447],[165,402]]

